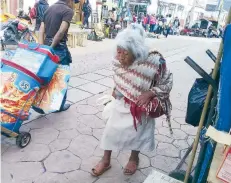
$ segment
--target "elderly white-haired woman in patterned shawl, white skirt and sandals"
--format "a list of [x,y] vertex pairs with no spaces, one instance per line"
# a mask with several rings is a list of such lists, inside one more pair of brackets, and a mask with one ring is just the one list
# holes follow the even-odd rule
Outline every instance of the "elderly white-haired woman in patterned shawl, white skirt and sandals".
[[124,174],[134,174],[139,152],[153,151],[155,147],[153,116],[169,114],[172,75],[161,54],[149,52],[144,35],[141,25],[132,24],[116,37],[112,94],[115,99],[110,104],[110,116],[101,139],[104,155],[92,169],[93,176],[110,169],[112,151],[121,150],[131,150]]

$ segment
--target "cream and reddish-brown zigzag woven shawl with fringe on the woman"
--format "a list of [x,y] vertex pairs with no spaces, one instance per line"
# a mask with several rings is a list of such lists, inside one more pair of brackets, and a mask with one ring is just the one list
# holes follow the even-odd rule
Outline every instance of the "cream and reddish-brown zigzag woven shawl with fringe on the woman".
[[[154,98],[156,106],[147,106],[146,112],[148,112],[150,107],[155,108],[158,105],[162,105],[169,119],[169,127],[171,127],[169,93],[172,88],[172,75],[166,70],[166,63],[162,55],[159,52],[152,51],[149,53],[147,60],[143,62],[134,62],[129,67],[123,67],[119,61],[115,60],[113,65],[115,88],[125,97],[125,101],[131,101],[130,104],[134,106],[137,97],[143,92],[151,90],[156,96]],[[141,114],[133,114],[132,111],[131,107],[134,127],[137,130],[135,118],[141,122]],[[170,132],[172,133],[171,128]]]

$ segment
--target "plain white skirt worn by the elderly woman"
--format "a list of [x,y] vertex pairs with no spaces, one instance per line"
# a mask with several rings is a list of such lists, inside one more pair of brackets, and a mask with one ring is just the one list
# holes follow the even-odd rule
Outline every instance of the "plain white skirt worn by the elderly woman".
[[[124,102],[123,98],[112,101],[109,106],[110,111],[107,109],[107,113],[110,113],[110,115],[100,147],[104,150],[113,151],[153,151],[155,148],[155,120],[143,116],[142,125],[138,124],[136,131],[130,106]],[[108,106],[106,107],[108,108]]]

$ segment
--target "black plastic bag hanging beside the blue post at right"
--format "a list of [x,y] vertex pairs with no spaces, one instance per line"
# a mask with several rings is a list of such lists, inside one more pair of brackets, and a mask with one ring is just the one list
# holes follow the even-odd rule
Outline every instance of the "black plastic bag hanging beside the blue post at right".
[[199,125],[204,102],[208,93],[208,87],[209,84],[203,78],[198,78],[194,82],[188,95],[188,106],[185,118],[186,123],[193,126]]

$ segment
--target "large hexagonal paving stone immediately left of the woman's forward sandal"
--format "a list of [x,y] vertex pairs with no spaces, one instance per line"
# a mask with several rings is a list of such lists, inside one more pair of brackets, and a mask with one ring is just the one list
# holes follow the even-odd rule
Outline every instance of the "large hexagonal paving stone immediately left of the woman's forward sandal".
[[81,159],[74,156],[67,150],[51,153],[44,161],[48,172],[66,173],[77,170],[80,167]]

